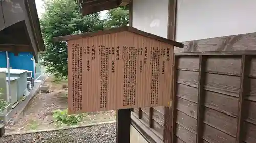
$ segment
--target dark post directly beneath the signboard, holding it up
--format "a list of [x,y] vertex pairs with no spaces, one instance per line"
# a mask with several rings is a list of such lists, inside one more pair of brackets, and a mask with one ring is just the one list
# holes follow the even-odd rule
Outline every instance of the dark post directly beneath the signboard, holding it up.
[[116,143],[130,143],[131,109],[117,110]]

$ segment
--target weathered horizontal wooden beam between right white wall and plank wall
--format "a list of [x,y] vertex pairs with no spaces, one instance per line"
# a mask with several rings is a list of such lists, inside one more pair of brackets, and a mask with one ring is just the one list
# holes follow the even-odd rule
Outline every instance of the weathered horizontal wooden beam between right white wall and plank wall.
[[175,53],[246,51],[256,49],[256,33],[231,35],[182,42],[184,48],[175,48]]

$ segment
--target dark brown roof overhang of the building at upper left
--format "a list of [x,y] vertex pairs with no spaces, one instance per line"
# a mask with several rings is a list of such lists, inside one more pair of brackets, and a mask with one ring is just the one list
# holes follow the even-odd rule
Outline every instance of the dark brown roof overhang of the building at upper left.
[[3,1],[0,10],[0,51],[32,52],[37,61],[45,46],[35,1]]

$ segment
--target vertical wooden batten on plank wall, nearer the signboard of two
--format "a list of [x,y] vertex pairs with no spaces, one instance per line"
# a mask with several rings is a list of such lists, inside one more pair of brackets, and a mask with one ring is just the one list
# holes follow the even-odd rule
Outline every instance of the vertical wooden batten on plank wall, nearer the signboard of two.
[[198,72],[198,94],[197,94],[197,143],[203,142],[203,120],[204,120],[204,84],[205,84],[205,69],[206,58],[203,55],[199,56],[199,72]]

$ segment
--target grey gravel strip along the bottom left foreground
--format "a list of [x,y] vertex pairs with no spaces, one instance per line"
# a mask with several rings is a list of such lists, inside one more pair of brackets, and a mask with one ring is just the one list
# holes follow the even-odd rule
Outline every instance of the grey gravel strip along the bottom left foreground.
[[103,124],[86,128],[11,135],[0,138],[1,143],[112,143],[116,142],[116,124]]

